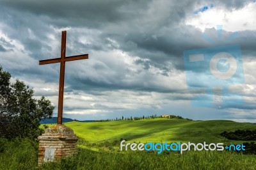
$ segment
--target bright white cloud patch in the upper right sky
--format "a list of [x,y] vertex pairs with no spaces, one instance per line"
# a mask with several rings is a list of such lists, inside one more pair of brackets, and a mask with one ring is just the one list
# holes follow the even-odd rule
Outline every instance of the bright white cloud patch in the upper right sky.
[[206,28],[223,25],[226,31],[255,30],[256,28],[256,3],[249,3],[243,8],[227,10],[224,6],[214,6],[213,8],[192,14],[186,19],[187,25],[195,26],[201,31]]

